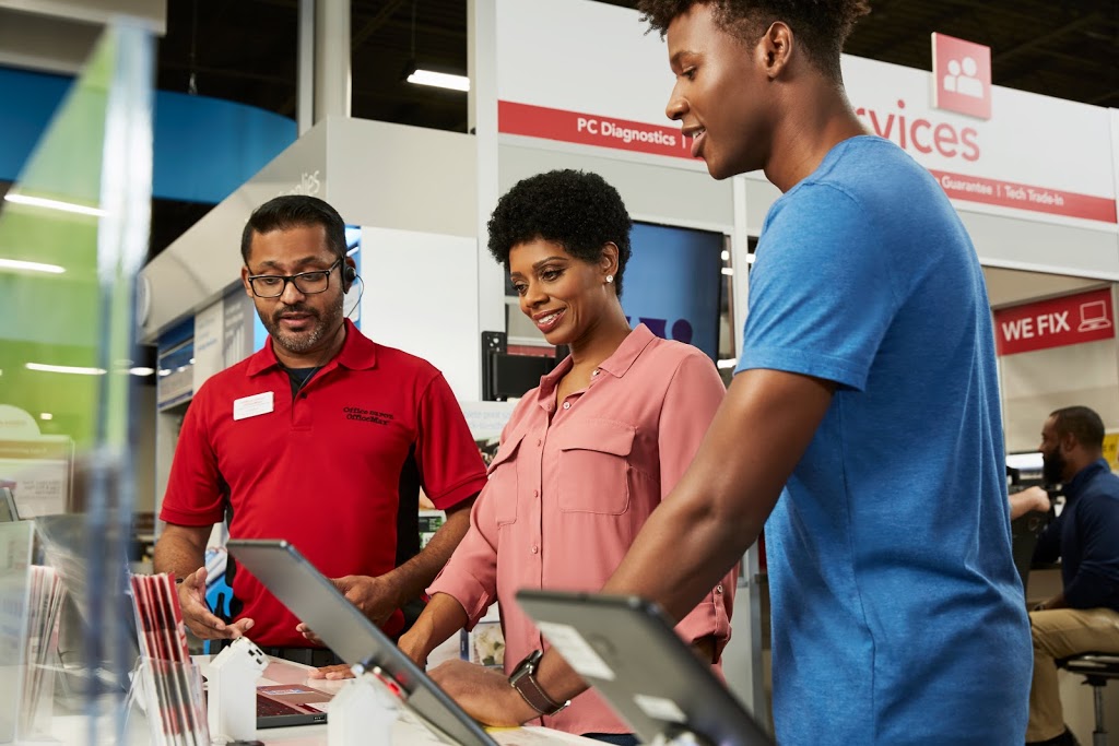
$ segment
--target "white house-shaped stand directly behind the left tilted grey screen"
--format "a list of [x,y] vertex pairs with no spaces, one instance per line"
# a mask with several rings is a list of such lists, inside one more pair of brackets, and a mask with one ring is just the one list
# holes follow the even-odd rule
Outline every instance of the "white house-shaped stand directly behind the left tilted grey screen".
[[399,686],[379,667],[358,663],[330,701],[327,746],[392,744],[393,725],[401,715]]

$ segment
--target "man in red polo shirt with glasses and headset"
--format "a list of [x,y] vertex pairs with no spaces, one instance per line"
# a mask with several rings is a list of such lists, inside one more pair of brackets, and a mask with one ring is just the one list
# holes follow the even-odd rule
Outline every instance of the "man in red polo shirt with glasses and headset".
[[[470,525],[486,483],[478,448],[431,363],[364,337],[345,317],[357,280],[345,224],[327,202],[289,195],[262,205],[242,235],[241,271],[270,342],[195,394],[160,518],[156,572],[182,582],[187,626],[203,639],[248,634],[309,664],[299,620],[229,559],[231,617],[206,605],[214,523],[234,538],[291,541],[387,634]],[[419,492],[446,522],[420,549]],[[325,653],[325,651],[323,651]]]

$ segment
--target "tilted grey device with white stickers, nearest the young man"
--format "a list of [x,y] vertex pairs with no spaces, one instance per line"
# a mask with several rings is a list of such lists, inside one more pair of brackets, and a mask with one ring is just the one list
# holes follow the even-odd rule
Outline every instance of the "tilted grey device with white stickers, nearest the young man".
[[712,746],[773,744],[656,604],[532,589],[518,592],[517,602],[642,742],[683,736],[681,743]]

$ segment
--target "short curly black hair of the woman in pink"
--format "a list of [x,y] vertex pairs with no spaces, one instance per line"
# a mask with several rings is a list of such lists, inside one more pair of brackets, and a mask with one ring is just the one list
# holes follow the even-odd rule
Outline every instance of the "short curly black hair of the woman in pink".
[[621,195],[598,173],[548,171],[521,179],[498,200],[488,224],[489,249],[508,271],[510,249],[532,240],[556,243],[584,262],[598,262],[602,247],[613,243],[614,289],[621,298],[632,226]]

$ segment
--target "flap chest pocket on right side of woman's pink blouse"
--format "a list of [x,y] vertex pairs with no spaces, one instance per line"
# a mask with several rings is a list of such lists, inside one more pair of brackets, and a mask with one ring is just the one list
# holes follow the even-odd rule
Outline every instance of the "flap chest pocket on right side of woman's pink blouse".
[[562,512],[621,516],[629,510],[627,457],[636,432],[612,419],[589,419],[563,432],[557,438]]

